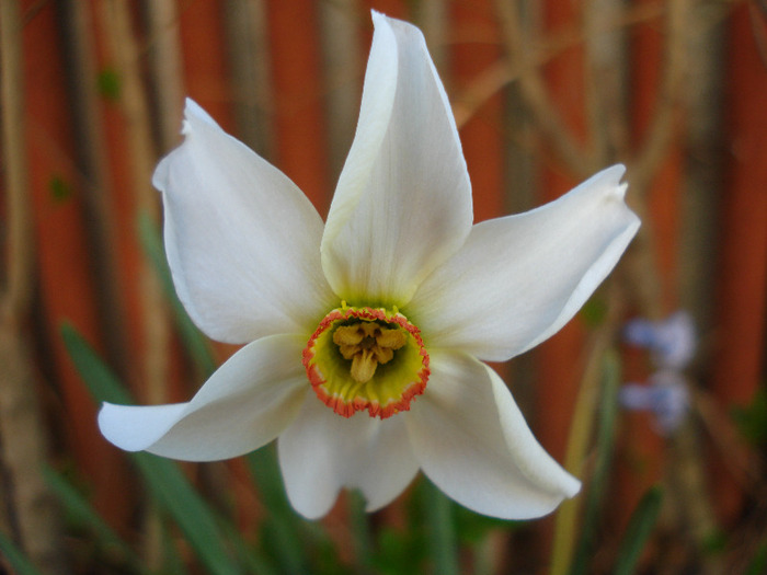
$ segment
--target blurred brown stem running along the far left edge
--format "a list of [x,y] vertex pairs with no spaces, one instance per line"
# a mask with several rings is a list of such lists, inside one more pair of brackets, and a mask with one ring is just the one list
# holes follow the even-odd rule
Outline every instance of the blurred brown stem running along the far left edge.
[[47,438],[36,396],[31,346],[22,326],[33,292],[34,243],[27,182],[22,78],[22,20],[18,2],[0,2],[2,153],[8,237],[0,295],[0,439],[3,495],[19,543],[46,573],[66,573],[55,503],[41,471]]

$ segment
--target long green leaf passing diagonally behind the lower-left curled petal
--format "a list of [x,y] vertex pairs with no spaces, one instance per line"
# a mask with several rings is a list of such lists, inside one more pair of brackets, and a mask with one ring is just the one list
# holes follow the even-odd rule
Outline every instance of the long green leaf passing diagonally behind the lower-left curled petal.
[[[96,401],[133,403],[117,378],[71,325],[62,325],[61,335],[75,366]],[[129,453],[129,457],[158,505],[179,525],[208,572],[221,575],[241,573],[227,551],[215,515],[179,467],[146,452]]]

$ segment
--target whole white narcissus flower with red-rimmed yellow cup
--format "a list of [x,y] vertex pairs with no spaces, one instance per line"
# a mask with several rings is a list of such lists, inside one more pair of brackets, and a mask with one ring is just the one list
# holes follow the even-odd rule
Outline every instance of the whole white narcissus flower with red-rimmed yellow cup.
[[277,169],[187,102],[154,185],[179,297],[244,344],[188,403],[105,404],[123,449],[191,461],[277,438],[294,507],[342,487],[367,508],[419,469],[481,514],[530,518],[580,488],[484,363],[566,323],[639,227],[622,166],[527,214],[472,226],[471,188],[423,36],[374,13],[356,136],[327,222]]

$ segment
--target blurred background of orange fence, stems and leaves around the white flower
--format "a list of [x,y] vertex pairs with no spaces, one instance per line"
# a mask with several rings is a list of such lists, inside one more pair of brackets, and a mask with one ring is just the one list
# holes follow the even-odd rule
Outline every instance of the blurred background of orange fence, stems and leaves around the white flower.
[[[310,524],[268,448],[178,465],[96,428],[99,401],[186,401],[233,352],[183,315],[159,242],[151,172],[184,97],[324,215],[370,8],[424,32],[476,220],[628,166],[643,226],[619,267],[497,366],[584,481],[551,517],[480,518],[420,479],[377,514],[350,494]],[[767,572],[765,2],[1,0],[0,26],[9,572]]]

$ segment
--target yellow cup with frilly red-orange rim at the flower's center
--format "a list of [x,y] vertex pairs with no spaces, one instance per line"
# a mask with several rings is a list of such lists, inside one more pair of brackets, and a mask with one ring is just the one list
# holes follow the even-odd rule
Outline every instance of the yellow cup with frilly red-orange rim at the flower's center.
[[408,411],[430,375],[421,332],[396,308],[345,302],[309,338],[304,366],[317,396],[344,417],[367,410],[385,419]]

